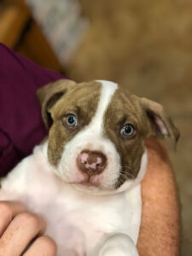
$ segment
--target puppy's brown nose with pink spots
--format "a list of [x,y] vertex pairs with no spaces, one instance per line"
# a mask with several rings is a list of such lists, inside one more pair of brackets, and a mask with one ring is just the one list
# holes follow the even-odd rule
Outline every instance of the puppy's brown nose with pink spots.
[[100,151],[83,150],[78,156],[78,166],[82,172],[96,175],[104,171],[107,159]]

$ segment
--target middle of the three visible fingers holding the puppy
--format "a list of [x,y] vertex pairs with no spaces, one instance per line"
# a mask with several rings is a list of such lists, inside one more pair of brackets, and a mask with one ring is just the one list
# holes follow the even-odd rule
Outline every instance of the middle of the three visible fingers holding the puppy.
[[[20,255],[35,236],[44,233],[45,221],[42,217],[22,212],[12,220],[0,239],[3,255]],[[1,253],[0,253],[1,256]]]

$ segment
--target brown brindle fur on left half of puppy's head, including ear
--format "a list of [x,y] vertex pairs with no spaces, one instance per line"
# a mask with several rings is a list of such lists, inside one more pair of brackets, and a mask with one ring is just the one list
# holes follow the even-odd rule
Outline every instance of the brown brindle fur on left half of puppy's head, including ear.
[[[72,81],[69,83],[67,80],[67,83],[65,83],[65,80],[61,80],[59,87],[52,89],[52,85],[54,85],[53,87],[57,87],[58,82],[51,84],[51,87],[49,85],[49,88],[46,88],[46,90],[44,90],[43,87],[39,90],[38,95],[41,94],[42,98],[45,99],[42,102],[42,114],[45,124],[47,124],[46,114],[48,111],[53,119],[53,125],[51,125],[49,129],[48,158],[50,164],[57,166],[61,160],[61,154],[65,144],[67,144],[80,129],[88,125],[91,118],[96,113],[102,84],[96,81],[75,84]],[[49,105],[49,108],[45,107],[48,106],[47,102],[51,102],[51,98],[54,98],[56,93],[61,92],[63,92],[63,96],[61,96],[54,105],[51,104],[51,107]],[[63,125],[63,119],[68,113],[74,113],[79,118],[79,125],[77,129],[73,131]]]

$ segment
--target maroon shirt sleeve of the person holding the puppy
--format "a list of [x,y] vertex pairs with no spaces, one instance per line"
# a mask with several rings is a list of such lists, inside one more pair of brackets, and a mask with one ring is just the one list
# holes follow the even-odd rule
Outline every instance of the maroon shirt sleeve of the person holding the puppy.
[[36,90],[65,78],[0,44],[0,177],[47,134]]

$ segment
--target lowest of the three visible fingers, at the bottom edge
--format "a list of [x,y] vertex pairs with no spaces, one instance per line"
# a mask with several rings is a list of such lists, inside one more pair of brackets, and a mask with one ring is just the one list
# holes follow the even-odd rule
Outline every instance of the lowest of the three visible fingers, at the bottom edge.
[[56,256],[56,245],[49,236],[40,236],[32,246],[23,254],[23,256]]

